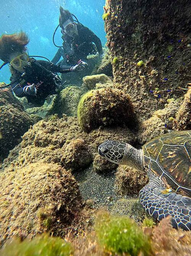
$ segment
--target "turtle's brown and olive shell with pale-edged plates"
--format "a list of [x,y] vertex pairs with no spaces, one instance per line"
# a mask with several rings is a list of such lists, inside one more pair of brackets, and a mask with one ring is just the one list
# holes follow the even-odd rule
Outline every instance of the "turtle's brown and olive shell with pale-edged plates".
[[191,130],[163,134],[142,149],[150,172],[167,187],[191,197]]

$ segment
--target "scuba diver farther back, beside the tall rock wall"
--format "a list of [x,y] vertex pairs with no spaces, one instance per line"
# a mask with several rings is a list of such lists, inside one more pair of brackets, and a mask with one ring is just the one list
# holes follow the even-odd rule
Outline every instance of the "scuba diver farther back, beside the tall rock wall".
[[71,65],[76,63],[79,59],[86,61],[87,55],[96,54],[97,51],[100,57],[103,56],[102,43],[100,39],[91,30],[89,30],[89,28],[79,23],[78,20],[77,23],[74,22],[72,16],[74,15],[68,10],[64,10],[60,7],[58,26],[61,27],[63,46],[55,45],[53,36],[54,45],[60,47],[52,59],[52,62],[55,64],[60,60],[61,56],[65,63]]

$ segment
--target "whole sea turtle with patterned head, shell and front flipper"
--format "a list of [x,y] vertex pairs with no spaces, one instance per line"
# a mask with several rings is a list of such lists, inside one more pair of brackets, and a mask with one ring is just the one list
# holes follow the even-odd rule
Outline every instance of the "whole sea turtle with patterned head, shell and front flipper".
[[105,159],[146,172],[139,192],[142,207],[157,220],[172,215],[174,228],[191,230],[191,130],[163,134],[142,149],[116,140],[98,148]]

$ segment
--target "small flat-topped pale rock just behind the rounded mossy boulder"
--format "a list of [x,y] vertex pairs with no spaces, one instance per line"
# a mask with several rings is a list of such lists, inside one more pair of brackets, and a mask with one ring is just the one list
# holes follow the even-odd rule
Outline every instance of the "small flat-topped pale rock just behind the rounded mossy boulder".
[[110,83],[111,84],[112,80],[105,74],[85,76],[83,78],[82,89],[84,91],[89,91],[89,90],[95,89],[95,85],[98,83],[100,83],[100,84]]

